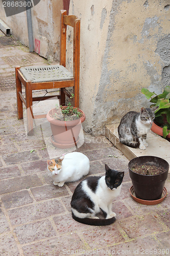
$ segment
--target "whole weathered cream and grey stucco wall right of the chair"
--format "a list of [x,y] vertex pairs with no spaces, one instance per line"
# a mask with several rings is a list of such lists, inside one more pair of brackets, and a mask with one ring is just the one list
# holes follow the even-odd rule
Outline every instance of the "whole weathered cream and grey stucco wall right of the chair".
[[170,6],[168,0],[87,2],[70,1],[69,13],[81,17],[80,107],[85,130],[96,134],[149,105],[141,88],[161,92],[169,84]]

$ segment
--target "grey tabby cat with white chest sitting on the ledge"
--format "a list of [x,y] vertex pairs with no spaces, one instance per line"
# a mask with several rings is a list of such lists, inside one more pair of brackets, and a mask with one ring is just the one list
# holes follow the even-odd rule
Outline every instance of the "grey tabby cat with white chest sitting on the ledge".
[[135,111],[128,112],[121,120],[118,126],[119,141],[131,147],[138,147],[145,150],[148,146],[146,142],[147,133],[150,132],[153,120],[155,118],[152,109],[141,108],[140,113]]

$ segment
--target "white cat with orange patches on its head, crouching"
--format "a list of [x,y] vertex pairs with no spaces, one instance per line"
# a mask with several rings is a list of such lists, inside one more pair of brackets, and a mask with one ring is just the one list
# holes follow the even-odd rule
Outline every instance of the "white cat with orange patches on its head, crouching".
[[88,157],[79,152],[71,152],[59,159],[47,160],[47,170],[53,184],[62,187],[65,182],[72,182],[87,175],[90,168]]

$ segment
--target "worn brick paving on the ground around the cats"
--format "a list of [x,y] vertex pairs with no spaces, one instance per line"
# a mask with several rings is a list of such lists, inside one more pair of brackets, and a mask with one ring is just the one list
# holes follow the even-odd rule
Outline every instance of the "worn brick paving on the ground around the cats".
[[17,119],[14,66],[21,63],[47,61],[23,46],[0,48],[0,255],[169,255],[169,176],[162,203],[136,203],[129,193],[128,160],[104,136],[84,133],[78,151],[90,159],[89,176],[104,175],[105,163],[125,172],[122,193],[113,201],[116,222],[94,227],[72,220],[70,200],[79,182],[53,185],[46,160],[54,148],[43,129],[27,137],[25,122]]

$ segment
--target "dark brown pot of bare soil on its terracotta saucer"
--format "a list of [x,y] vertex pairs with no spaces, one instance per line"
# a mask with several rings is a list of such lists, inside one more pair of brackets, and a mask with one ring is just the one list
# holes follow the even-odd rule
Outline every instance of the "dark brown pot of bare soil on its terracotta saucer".
[[[166,196],[164,187],[169,164],[166,160],[155,156],[133,158],[129,164],[129,175],[132,180],[130,188],[133,199],[142,204],[160,203]],[[163,197],[162,197],[163,196]]]

